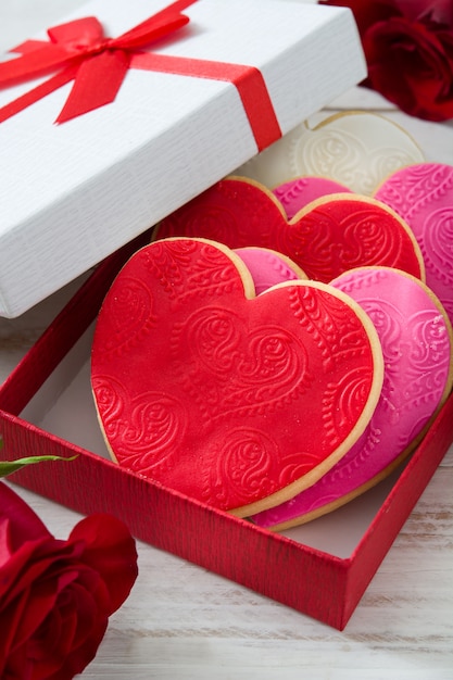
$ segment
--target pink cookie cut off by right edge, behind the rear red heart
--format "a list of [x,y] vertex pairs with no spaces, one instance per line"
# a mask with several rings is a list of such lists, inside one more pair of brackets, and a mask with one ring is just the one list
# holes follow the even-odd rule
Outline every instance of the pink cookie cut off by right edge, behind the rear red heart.
[[453,166],[410,165],[388,177],[375,196],[414,231],[425,261],[426,282],[453,323]]

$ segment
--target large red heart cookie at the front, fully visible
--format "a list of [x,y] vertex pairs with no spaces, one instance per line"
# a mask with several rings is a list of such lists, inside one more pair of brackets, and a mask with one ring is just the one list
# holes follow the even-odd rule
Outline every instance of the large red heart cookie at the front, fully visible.
[[138,251],[100,311],[91,380],[112,456],[247,516],[314,483],[364,431],[383,362],[368,316],[324,284],[254,297],[202,239]]

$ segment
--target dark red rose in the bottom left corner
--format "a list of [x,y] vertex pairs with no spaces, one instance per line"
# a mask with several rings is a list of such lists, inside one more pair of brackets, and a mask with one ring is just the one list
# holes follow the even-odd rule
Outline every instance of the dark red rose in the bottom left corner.
[[118,519],[92,515],[56,540],[0,483],[0,678],[81,672],[136,578],[135,541]]

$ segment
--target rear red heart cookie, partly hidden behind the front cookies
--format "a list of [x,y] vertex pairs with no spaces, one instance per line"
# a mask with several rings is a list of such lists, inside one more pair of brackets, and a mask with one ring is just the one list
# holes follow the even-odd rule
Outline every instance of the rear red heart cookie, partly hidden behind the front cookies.
[[313,201],[288,222],[263,185],[223,179],[161,222],[156,238],[174,236],[213,239],[232,249],[268,248],[324,282],[358,266],[425,276],[420,249],[403,219],[388,205],[355,193]]

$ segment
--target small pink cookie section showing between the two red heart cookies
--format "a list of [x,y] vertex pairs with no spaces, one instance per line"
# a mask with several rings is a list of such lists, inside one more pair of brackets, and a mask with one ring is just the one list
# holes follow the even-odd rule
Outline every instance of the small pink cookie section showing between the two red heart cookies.
[[277,284],[301,278],[297,270],[290,267],[288,261],[273,250],[246,247],[237,248],[234,252],[239,255],[252,275],[256,295]]

